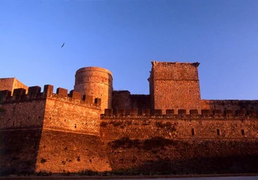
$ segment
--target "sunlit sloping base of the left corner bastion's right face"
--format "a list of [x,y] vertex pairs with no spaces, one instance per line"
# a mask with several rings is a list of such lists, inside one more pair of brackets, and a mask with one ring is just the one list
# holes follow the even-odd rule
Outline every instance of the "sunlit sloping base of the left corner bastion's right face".
[[106,146],[97,136],[43,129],[36,172],[83,172],[111,170]]

